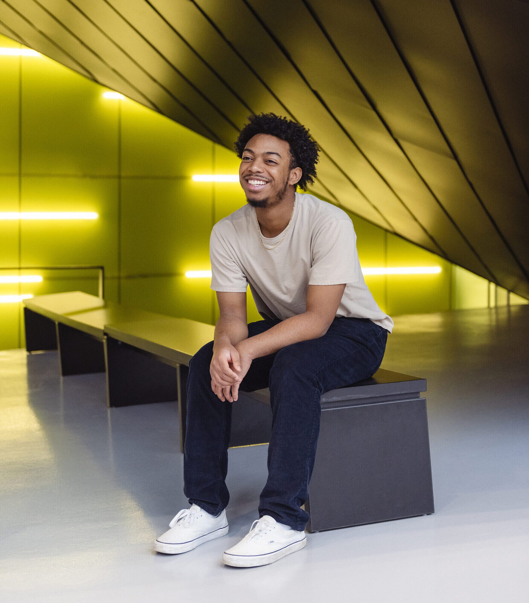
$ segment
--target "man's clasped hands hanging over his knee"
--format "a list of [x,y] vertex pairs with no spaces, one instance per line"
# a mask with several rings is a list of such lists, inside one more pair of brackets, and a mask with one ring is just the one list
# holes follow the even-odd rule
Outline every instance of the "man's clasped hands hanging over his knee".
[[239,341],[236,346],[221,344],[213,350],[209,367],[211,389],[223,402],[235,402],[239,396],[239,385],[252,364],[248,339]]

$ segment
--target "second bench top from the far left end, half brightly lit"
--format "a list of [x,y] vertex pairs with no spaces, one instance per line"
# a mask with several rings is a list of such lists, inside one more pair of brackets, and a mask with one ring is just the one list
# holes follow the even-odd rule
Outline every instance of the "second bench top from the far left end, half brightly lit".
[[67,324],[69,327],[84,331],[99,339],[103,339],[103,330],[109,323],[133,323],[134,321],[163,320],[162,314],[129,308],[117,303],[107,303],[105,308],[98,308],[88,312],[76,312],[58,317],[56,320]]

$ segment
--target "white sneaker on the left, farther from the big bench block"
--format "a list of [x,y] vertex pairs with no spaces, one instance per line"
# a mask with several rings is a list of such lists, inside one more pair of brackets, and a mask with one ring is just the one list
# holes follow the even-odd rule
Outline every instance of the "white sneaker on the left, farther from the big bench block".
[[169,555],[192,551],[204,542],[225,536],[229,529],[226,511],[214,517],[195,504],[177,513],[169,528],[156,539],[154,551]]

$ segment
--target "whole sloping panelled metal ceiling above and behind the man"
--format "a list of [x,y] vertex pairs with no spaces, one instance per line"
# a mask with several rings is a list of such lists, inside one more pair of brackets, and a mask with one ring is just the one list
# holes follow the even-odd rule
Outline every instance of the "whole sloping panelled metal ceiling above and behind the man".
[[233,148],[305,124],[315,192],[529,297],[526,0],[0,0],[0,33]]

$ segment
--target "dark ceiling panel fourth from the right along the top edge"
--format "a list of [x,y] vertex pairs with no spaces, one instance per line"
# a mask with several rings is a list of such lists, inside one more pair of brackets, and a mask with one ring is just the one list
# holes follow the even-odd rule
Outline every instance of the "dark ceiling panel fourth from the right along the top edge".
[[[426,231],[435,233],[434,238],[446,255],[464,257],[466,265],[472,266],[473,271],[483,273],[482,262],[458,232],[451,216],[447,215],[420,179],[384,122],[368,104],[366,96],[318,28],[317,22],[305,9],[303,2],[297,0],[285,5],[281,0],[270,0],[265,3],[253,1],[252,4],[301,69],[310,86],[318,89],[323,103],[343,124],[388,186],[400,199],[405,200],[404,203]],[[283,18],[276,19],[281,5]],[[373,17],[376,18],[375,13]],[[297,20],[297,27],[292,30],[290,24],[294,20]],[[355,35],[355,31],[349,31]],[[311,39],[310,46],[302,43],[307,37]],[[313,45],[318,48],[317,54],[313,51]],[[491,276],[487,273],[487,277]]]

